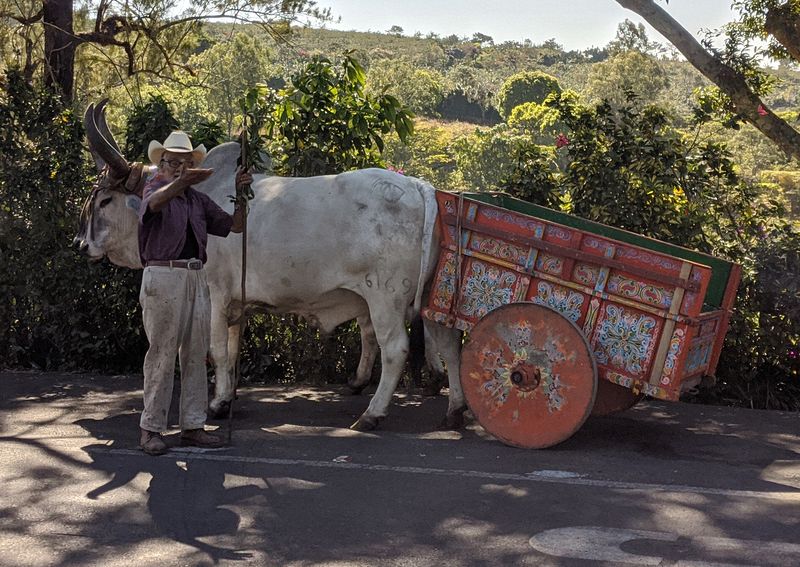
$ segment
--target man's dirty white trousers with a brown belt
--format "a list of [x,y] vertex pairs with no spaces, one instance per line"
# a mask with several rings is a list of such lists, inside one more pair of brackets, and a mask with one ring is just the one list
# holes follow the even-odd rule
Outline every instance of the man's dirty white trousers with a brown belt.
[[180,428],[203,428],[208,405],[206,354],[211,333],[211,300],[205,270],[149,266],[142,276],[139,303],[150,342],[144,358],[141,427],[158,433],[167,429],[178,356]]

